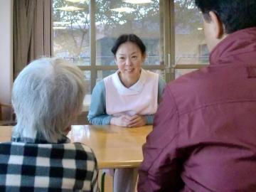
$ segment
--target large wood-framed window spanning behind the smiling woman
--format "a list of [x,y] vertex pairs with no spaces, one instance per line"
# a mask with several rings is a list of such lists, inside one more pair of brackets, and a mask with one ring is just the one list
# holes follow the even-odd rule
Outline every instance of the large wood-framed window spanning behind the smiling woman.
[[114,73],[111,53],[122,33],[146,45],[144,68],[172,80],[208,63],[194,0],[53,0],[53,55],[84,71],[87,94]]

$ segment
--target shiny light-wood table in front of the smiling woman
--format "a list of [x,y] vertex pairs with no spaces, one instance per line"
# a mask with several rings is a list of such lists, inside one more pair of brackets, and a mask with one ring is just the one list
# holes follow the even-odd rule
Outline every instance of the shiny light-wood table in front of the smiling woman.
[[[0,127],[0,142],[8,142],[12,127]],[[68,137],[95,152],[99,169],[132,168],[142,162],[142,144],[152,126],[124,128],[114,125],[73,125]]]

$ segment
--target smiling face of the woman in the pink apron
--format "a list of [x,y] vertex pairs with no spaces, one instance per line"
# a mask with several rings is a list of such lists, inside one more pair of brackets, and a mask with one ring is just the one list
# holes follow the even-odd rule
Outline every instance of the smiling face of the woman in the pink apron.
[[138,80],[144,59],[145,55],[142,55],[142,50],[137,44],[129,41],[122,43],[115,55],[115,62],[122,79]]

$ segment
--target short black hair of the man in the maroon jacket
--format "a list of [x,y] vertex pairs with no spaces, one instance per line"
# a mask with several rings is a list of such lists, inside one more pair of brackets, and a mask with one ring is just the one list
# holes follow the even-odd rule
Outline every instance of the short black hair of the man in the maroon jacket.
[[206,21],[213,11],[225,26],[225,33],[233,33],[256,26],[255,0],[195,0]]

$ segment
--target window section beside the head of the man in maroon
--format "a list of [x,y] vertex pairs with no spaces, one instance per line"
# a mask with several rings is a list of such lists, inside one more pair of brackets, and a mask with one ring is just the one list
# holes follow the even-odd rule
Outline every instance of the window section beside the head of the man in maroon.
[[175,78],[208,64],[203,18],[194,0],[174,0]]

